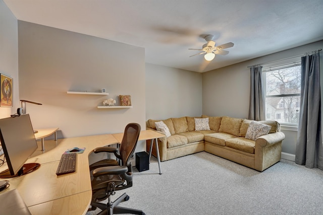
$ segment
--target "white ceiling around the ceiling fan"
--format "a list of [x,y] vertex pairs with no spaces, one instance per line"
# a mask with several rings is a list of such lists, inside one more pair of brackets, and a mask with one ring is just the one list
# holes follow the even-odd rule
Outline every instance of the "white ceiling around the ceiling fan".
[[[323,0],[4,2],[18,20],[144,47],[147,63],[198,72],[323,39]],[[235,45],[212,61],[189,57],[207,34]]]

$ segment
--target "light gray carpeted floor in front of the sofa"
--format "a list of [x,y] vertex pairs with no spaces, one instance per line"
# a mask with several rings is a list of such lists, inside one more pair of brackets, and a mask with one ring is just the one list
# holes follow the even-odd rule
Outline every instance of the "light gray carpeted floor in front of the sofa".
[[323,171],[291,161],[260,173],[201,152],[161,162],[161,175],[153,157],[149,168],[134,168],[133,186],[114,195],[130,196],[120,206],[147,215],[323,214]]

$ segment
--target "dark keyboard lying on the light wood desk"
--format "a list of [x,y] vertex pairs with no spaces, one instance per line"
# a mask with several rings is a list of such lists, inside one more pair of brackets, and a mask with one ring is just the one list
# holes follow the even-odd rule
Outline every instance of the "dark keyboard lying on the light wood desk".
[[63,175],[76,171],[76,153],[63,154],[56,175]]

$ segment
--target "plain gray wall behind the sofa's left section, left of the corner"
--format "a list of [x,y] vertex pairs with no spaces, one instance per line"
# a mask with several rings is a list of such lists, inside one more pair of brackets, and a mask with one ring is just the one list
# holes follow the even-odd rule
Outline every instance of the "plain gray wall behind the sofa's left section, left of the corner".
[[202,114],[202,74],[146,63],[146,120]]

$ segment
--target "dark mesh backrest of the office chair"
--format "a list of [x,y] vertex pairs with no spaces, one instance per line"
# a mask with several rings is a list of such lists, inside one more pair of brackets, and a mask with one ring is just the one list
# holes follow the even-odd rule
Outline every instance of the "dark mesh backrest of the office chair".
[[129,123],[125,128],[120,146],[120,156],[123,166],[129,165],[130,158],[137,146],[140,130],[141,126],[138,123]]

